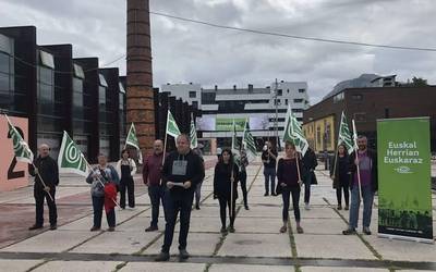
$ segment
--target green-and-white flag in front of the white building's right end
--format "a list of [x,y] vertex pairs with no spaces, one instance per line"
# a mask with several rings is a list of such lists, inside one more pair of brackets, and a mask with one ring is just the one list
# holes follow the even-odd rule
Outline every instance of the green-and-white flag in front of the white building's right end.
[[304,137],[303,131],[301,129],[301,124],[292,113],[290,106],[288,107],[283,141],[293,143],[296,151],[301,152],[303,156],[307,151],[308,143]]

